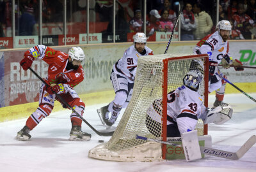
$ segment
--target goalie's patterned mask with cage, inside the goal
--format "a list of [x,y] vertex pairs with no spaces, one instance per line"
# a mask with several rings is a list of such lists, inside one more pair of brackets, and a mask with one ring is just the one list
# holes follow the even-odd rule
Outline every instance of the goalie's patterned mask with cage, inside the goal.
[[197,91],[202,78],[202,74],[199,71],[189,71],[188,74],[183,78],[183,83],[190,89]]

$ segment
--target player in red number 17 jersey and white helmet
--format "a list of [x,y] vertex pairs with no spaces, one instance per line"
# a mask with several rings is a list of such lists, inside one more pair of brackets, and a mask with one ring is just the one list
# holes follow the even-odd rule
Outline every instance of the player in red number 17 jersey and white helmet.
[[[54,94],[59,94],[74,110],[83,115],[84,103],[77,95],[74,87],[84,80],[84,71],[81,62],[84,61],[84,52],[80,47],[72,47],[68,54],[46,47],[45,45],[37,45],[30,48],[24,53],[24,59],[20,61],[20,66],[26,71],[31,67],[35,58],[42,59],[49,64],[48,76],[40,88],[39,106],[33,112],[26,125],[17,133],[17,140],[29,140],[31,135],[29,132],[38,125],[41,120],[48,117],[54,107],[54,101],[60,101]],[[54,92],[53,92],[54,91]],[[61,103],[61,101],[60,101]],[[62,103],[61,103],[62,104]],[[67,108],[63,104],[63,108]],[[70,115],[72,129],[70,131],[69,140],[88,141],[91,134],[81,131],[81,118],[75,113]]]

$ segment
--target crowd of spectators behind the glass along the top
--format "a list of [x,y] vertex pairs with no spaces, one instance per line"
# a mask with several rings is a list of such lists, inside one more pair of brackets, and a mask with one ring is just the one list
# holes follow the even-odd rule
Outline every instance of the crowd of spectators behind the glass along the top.
[[[229,20],[232,25],[231,39],[254,39],[256,22],[256,0],[220,0],[219,20]],[[38,23],[38,0],[20,0],[15,6],[16,35],[36,35]],[[113,2],[116,3],[116,31],[143,32],[146,25],[147,36],[155,32],[172,32],[179,3],[174,0],[147,1],[147,20],[144,21],[143,0],[90,0],[89,21],[108,22],[105,32],[113,32]],[[16,1],[15,1],[16,3]],[[63,1],[42,0],[43,24],[63,22]],[[214,4],[214,3],[212,3]],[[198,40],[215,31],[216,6],[203,0],[185,1],[180,15],[181,40]],[[216,4],[215,4],[216,5]],[[12,27],[10,14],[11,0],[0,1],[0,37],[6,36],[7,27]],[[67,21],[86,22],[87,0],[67,0]],[[120,25],[120,26],[118,26]],[[254,28],[253,28],[254,27]],[[4,32],[5,30],[5,32]],[[177,28],[175,31],[178,31]]]

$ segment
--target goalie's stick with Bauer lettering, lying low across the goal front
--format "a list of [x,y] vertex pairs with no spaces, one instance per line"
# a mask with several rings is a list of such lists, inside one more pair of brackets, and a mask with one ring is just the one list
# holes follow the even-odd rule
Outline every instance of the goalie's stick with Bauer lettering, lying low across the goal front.
[[[181,145],[177,145],[175,143],[172,142],[168,142],[168,141],[162,141],[162,140],[154,140],[154,139],[150,139],[150,138],[146,138],[143,136],[138,136],[136,135],[136,139],[141,139],[141,140],[148,140],[148,141],[156,141],[158,143],[163,143],[166,145],[172,145],[175,147],[180,147]],[[221,157],[221,158],[225,158],[225,159],[231,159],[231,160],[237,160],[240,159],[241,157],[243,157],[243,155],[256,143],[256,136],[253,135],[251,136],[245,143],[244,145],[239,148],[239,150],[237,150],[237,152],[228,152],[225,150],[219,150],[216,148],[207,148],[207,147],[200,147],[200,151],[202,154],[206,154],[206,155],[211,155],[211,156],[215,156],[215,157]]]

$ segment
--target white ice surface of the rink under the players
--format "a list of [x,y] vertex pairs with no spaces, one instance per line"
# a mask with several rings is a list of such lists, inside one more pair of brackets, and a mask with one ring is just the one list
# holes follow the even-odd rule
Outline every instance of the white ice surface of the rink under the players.
[[[256,94],[250,96],[256,99]],[[214,96],[209,97],[210,106],[214,99]],[[236,152],[250,136],[256,134],[256,103],[243,94],[227,94],[225,102],[234,108],[233,118],[223,125],[209,125],[209,134],[213,148]],[[98,130],[106,129],[96,112],[103,105],[87,106],[84,113],[84,118]],[[92,140],[68,141],[71,127],[69,114],[70,111],[63,110],[44,118],[31,131],[29,141],[14,139],[25,125],[26,118],[0,123],[0,171],[256,171],[256,145],[238,161],[219,157],[207,157],[195,162],[111,162],[92,159],[88,157],[88,150],[99,145],[98,140],[107,142],[110,137],[98,136],[83,122],[83,131],[91,133]]]

